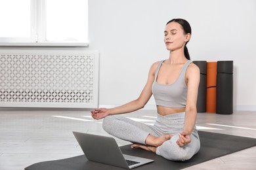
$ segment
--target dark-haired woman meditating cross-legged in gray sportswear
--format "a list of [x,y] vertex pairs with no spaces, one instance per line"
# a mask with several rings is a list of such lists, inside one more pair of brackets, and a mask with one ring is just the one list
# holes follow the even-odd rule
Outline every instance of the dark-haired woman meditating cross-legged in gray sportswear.
[[[104,118],[105,131],[130,141],[131,148],[152,151],[168,160],[189,160],[198,152],[200,139],[195,124],[200,70],[190,61],[186,48],[190,37],[191,27],[186,20],[167,22],[164,42],[169,59],[152,64],[139,98],[120,107],[91,111],[93,118]],[[158,111],[154,126],[114,115],[143,108],[152,94]]]

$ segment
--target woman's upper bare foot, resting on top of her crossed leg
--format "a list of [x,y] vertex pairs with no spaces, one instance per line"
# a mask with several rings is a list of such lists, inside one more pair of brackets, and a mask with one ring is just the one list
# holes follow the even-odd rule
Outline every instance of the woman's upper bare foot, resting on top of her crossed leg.
[[160,137],[148,135],[148,137],[146,138],[146,144],[157,147],[163,144],[165,141],[171,139],[171,137],[173,137],[173,135],[170,134],[164,134],[161,135]]

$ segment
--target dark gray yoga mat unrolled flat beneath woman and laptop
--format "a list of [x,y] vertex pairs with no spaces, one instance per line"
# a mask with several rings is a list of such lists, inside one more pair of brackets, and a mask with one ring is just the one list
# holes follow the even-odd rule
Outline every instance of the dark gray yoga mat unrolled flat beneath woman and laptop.
[[[165,158],[158,156],[152,152],[142,150],[140,148],[131,149],[130,144],[121,146],[123,154],[130,154],[133,156],[140,156],[148,159],[155,160],[152,163],[142,165],[137,167],[138,170],[148,170],[148,169],[183,169],[185,167],[190,167],[203,161],[212,160],[219,158],[226,154],[231,154],[239,150],[244,150],[245,148],[250,148],[256,146],[256,139],[248,137],[238,137],[234,135],[224,135],[221,133],[210,133],[205,131],[198,131],[200,135],[201,148],[198,154],[194,155],[190,160],[187,161],[170,161],[165,160]],[[111,154],[111,153],[110,153]],[[96,163],[93,161],[88,161],[84,155],[75,156],[73,158],[67,158],[64,160],[55,161],[44,161],[35,163],[26,167],[25,170],[116,170],[122,169],[120,167],[114,167],[111,165],[105,165],[102,163]]]

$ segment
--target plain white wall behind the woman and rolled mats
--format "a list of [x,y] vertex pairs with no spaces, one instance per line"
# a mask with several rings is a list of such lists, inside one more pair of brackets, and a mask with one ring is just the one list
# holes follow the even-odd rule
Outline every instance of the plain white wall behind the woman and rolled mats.
[[233,60],[234,109],[256,110],[255,17],[253,0],[90,0],[89,49],[100,51],[100,105],[139,96],[150,65],[168,58],[166,22],[184,18],[192,26],[191,59]]

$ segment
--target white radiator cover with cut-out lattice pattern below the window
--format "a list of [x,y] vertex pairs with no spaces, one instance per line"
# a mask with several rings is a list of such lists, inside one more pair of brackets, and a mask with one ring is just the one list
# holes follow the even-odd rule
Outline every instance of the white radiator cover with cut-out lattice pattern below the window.
[[0,108],[98,107],[99,54],[0,50]]

